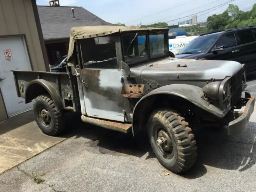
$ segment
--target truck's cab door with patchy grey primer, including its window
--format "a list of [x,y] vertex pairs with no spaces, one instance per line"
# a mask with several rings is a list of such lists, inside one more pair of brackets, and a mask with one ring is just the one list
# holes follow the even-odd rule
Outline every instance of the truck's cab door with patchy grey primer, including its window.
[[113,36],[80,40],[83,65],[80,81],[84,99],[81,107],[86,116],[124,122],[121,71],[116,56],[118,41]]

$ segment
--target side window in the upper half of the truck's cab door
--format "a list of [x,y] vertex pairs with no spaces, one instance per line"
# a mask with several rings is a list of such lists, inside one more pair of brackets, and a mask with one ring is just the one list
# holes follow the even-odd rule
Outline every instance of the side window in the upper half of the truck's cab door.
[[117,68],[116,36],[80,40],[84,68]]

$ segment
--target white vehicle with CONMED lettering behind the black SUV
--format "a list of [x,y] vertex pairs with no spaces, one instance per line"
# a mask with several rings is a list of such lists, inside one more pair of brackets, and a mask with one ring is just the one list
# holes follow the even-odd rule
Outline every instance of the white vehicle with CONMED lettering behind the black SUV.
[[182,48],[198,36],[176,36],[169,39],[169,51],[176,55]]

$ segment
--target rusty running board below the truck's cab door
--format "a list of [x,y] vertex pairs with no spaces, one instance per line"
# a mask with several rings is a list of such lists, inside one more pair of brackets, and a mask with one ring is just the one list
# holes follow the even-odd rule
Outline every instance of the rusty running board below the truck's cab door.
[[81,119],[83,122],[94,124],[106,129],[111,129],[114,131],[124,132],[128,133],[132,127],[132,124],[126,124],[126,123],[119,123],[119,122],[113,122],[110,120],[101,120],[96,118],[90,118],[87,116],[82,115]]

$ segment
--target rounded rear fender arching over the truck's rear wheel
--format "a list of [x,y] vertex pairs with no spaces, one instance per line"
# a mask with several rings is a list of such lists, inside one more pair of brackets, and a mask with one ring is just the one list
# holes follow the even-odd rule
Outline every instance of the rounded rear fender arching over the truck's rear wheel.
[[[32,89],[35,88],[35,85],[42,86],[48,92],[58,110],[64,109],[62,100],[59,94],[56,92],[56,89],[54,88],[54,86],[52,86],[52,84],[50,84],[48,81],[44,79],[36,79],[29,82],[29,84],[26,86],[26,89],[24,90],[25,103],[31,102],[31,100],[34,99],[31,98],[30,93]],[[39,95],[36,95],[36,97],[37,96]]]

